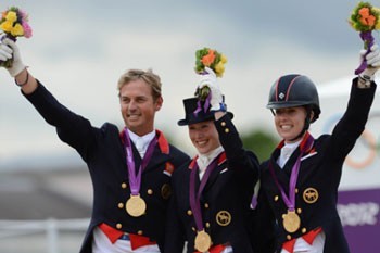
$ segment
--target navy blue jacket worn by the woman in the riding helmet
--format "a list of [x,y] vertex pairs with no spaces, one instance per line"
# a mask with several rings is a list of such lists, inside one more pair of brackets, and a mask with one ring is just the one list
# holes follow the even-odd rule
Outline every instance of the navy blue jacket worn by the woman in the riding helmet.
[[357,80],[354,79],[347,109],[332,134],[315,139],[313,148],[302,157],[295,194],[295,210],[301,217],[301,227],[293,233],[287,232],[282,226],[282,215],[288,208],[268,164],[273,165],[279,184],[288,194],[290,173],[300,155],[300,148],[282,169],[276,162],[280,149],[276,149],[270,159],[261,165],[261,189],[253,225],[257,253],[274,253],[276,249],[280,252],[286,241],[302,237],[318,227],[326,235],[325,253],[350,252],[337,211],[338,187],[344,160],[364,131],[376,90],[375,83],[369,89],[359,89],[356,84]]

